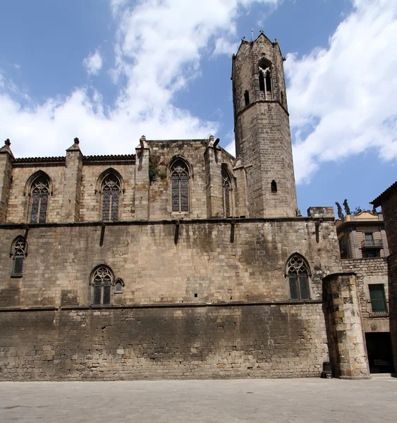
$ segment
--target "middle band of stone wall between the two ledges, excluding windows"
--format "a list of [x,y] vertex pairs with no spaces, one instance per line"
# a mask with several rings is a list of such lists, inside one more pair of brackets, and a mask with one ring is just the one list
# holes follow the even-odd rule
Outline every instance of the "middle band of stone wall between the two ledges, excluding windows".
[[[310,266],[311,298],[322,298],[322,278],[340,271],[333,219],[185,221],[177,244],[173,221],[32,225],[23,277],[11,276],[11,244],[24,235],[5,226],[0,250],[0,307],[90,305],[90,274],[107,264],[125,283],[112,302],[285,301],[285,266],[294,252]],[[233,229],[233,232],[232,232]],[[233,239],[232,238],[233,235]],[[101,246],[102,245],[102,246]]]

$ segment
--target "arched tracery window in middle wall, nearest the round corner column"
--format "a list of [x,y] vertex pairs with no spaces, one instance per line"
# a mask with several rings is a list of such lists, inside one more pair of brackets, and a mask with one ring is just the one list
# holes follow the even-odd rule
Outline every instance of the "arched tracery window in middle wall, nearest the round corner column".
[[305,259],[300,255],[293,255],[288,260],[286,274],[291,300],[310,300],[309,271]]

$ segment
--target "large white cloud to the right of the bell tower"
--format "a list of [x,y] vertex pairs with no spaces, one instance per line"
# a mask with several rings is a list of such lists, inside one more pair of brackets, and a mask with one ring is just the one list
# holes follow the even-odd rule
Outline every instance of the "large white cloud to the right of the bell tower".
[[327,49],[288,54],[288,108],[295,176],[307,182],[324,161],[375,149],[397,158],[397,2],[355,0]]

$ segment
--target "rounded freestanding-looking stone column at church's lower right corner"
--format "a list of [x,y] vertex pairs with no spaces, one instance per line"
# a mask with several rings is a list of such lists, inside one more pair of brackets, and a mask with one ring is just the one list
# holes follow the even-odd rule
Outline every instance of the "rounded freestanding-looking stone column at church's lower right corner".
[[324,278],[331,294],[334,331],[334,366],[341,379],[369,379],[369,365],[360,301],[354,273],[332,274]]

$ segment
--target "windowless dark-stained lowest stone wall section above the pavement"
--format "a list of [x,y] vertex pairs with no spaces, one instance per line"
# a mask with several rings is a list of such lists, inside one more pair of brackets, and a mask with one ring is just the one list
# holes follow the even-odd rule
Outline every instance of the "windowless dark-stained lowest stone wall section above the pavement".
[[322,305],[0,312],[0,380],[319,376]]

